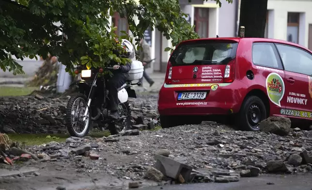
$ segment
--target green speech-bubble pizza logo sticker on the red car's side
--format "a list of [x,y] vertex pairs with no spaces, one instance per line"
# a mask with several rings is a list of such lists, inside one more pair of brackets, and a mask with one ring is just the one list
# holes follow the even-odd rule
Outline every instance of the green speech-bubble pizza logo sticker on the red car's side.
[[270,73],[266,78],[265,84],[266,92],[271,102],[281,107],[281,99],[285,92],[285,84],[281,76],[277,73]]

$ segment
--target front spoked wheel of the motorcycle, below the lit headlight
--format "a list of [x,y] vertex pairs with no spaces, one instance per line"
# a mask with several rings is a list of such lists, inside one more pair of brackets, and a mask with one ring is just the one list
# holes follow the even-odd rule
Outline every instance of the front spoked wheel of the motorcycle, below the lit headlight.
[[77,94],[72,96],[66,108],[65,122],[66,127],[71,136],[84,137],[90,130],[90,111],[86,119],[83,121],[84,113],[88,107],[87,96],[83,94]]

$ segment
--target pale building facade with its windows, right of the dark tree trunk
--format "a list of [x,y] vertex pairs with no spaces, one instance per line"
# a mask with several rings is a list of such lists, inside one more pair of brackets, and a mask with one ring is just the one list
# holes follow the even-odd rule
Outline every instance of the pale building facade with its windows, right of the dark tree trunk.
[[265,37],[312,50],[312,0],[268,0]]

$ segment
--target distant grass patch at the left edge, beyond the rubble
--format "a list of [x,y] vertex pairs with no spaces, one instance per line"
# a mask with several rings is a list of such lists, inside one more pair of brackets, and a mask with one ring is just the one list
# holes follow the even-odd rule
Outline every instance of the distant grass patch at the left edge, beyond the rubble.
[[39,87],[12,87],[0,86],[0,96],[21,96],[29,95],[34,90],[39,90]]

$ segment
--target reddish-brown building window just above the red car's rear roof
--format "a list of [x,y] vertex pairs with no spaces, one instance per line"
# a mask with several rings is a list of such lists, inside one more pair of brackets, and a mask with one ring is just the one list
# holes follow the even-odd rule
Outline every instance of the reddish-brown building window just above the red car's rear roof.
[[208,21],[209,21],[209,8],[195,8],[194,25],[195,32],[201,36],[201,38],[208,37]]

